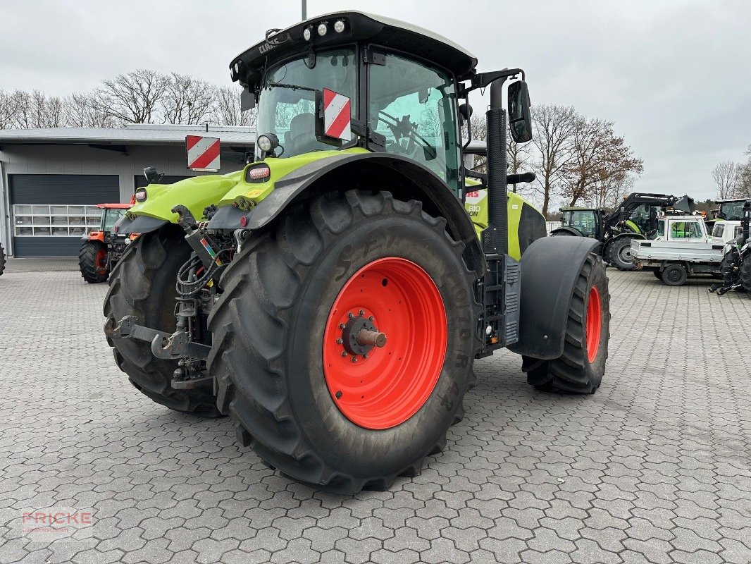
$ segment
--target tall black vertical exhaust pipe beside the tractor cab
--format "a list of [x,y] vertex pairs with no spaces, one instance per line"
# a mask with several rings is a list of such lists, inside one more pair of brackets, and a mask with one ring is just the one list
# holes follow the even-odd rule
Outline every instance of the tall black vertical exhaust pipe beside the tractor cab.
[[487,223],[484,252],[508,253],[508,183],[506,180],[506,112],[503,109],[504,80],[490,84],[487,111]]

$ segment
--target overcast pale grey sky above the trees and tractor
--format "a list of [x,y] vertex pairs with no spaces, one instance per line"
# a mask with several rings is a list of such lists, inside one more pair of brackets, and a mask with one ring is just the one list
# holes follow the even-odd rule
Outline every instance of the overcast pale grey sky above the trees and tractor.
[[[480,70],[526,70],[532,103],[614,120],[644,159],[636,188],[714,196],[710,171],[751,144],[751,2],[338,2],[432,29]],[[92,89],[134,68],[230,84],[230,59],[266,29],[300,20],[300,0],[0,0],[0,89]],[[478,104],[475,103],[475,108]]]

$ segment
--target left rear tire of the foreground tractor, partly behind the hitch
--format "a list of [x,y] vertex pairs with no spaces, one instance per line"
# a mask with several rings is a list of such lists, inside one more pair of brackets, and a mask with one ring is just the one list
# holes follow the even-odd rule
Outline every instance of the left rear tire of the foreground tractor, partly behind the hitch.
[[[113,328],[126,315],[158,331],[173,332],[176,326],[175,282],[178,268],[189,259],[191,249],[182,229],[165,226],[141,235],[128,245],[115,265],[110,290],[104,299],[104,317]],[[184,413],[218,417],[210,387],[174,390],[171,386],[177,362],[156,358],[144,341],[107,338],[115,362],[131,383],[154,402]]]

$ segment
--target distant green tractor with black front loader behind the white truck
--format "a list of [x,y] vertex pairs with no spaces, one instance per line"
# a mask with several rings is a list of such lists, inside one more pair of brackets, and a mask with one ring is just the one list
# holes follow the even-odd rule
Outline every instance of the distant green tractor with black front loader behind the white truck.
[[550,235],[573,235],[599,241],[597,253],[618,270],[635,270],[632,239],[657,236],[657,213],[668,208],[683,213],[695,210],[689,196],[632,193],[613,211],[599,208],[561,208],[561,226]]

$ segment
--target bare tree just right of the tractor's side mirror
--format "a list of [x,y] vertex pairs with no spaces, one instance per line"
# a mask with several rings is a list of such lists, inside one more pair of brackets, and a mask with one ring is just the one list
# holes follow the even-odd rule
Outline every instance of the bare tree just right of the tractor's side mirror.
[[535,162],[535,192],[542,198],[542,214],[547,217],[550,198],[559,188],[561,176],[572,162],[573,141],[578,114],[573,107],[542,104],[532,107],[532,143],[540,160]]

